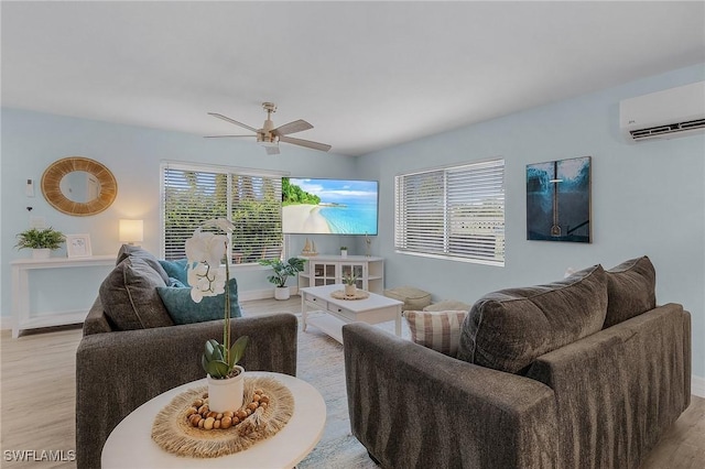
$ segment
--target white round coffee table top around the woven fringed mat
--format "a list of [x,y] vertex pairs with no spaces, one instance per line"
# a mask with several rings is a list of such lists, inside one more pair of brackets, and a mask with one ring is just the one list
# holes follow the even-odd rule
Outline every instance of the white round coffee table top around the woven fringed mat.
[[301,462],[316,446],[326,424],[326,404],[314,386],[289,374],[248,371],[248,377],[279,380],[294,397],[294,414],[271,438],[219,458],[185,458],[164,451],[152,440],[152,423],[172,399],[206,385],[206,379],[186,383],[135,408],[112,430],[102,448],[102,469],[126,468],[288,468]]

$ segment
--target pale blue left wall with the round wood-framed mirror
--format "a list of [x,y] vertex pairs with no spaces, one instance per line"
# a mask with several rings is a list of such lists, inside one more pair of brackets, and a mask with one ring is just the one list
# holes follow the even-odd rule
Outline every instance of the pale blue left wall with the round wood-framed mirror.
[[[2,109],[2,173],[0,193],[0,271],[3,327],[10,327],[6,317],[11,314],[11,276],[9,263],[29,258],[30,251],[13,248],[15,234],[30,223],[28,206],[34,207],[32,216],[44,217],[48,225],[64,233],[89,233],[94,254],[117,253],[118,220],[141,218],[144,220],[144,242],[152,251],[160,250],[160,162],[162,160],[202,162],[215,165],[288,171],[292,176],[349,177],[355,172],[355,159],[335,153],[323,153],[286,145],[280,155],[268,156],[263,149],[251,142],[236,139],[204,139],[180,132],[120,126],[94,120]],[[54,161],[66,156],[86,156],[105,164],[118,182],[118,196],[110,208],[93,217],[72,217],[52,208],[41,194],[40,181],[44,170]],[[33,178],[36,196],[24,195],[24,183]],[[292,237],[292,251],[303,244]],[[323,252],[335,252],[340,246],[336,239],[322,240],[317,244]],[[327,247],[327,244],[330,244]],[[66,255],[64,250],[53,253]],[[267,282],[265,268],[245,268],[237,272],[241,291],[272,288]],[[51,302],[65,302],[62,309],[76,309],[70,297],[76,292],[97,294],[97,287],[78,281],[78,273],[66,270],[62,281],[68,279],[67,298],[52,297]],[[76,279],[75,282],[70,282]],[[58,281],[58,280],[57,280]],[[295,282],[293,282],[295,283]],[[98,282],[99,284],[99,282]],[[66,288],[64,286],[64,288]],[[73,290],[73,291],[72,291]],[[94,296],[95,297],[95,296]],[[93,301],[93,299],[91,299]],[[85,303],[85,302],[84,302]],[[42,304],[33,310],[50,309]]]

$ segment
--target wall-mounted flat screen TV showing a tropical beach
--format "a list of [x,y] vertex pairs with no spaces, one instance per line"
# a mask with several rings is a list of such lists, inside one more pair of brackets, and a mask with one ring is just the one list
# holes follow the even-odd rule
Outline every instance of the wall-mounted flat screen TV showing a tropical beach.
[[282,231],[290,234],[377,234],[378,182],[282,179]]

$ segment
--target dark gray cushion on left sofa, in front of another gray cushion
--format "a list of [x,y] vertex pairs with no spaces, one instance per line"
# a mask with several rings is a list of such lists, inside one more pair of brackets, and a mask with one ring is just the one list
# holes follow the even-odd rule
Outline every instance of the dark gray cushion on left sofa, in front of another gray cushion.
[[128,257],[100,284],[100,302],[117,330],[173,326],[156,293],[158,286],[165,285],[145,260]]

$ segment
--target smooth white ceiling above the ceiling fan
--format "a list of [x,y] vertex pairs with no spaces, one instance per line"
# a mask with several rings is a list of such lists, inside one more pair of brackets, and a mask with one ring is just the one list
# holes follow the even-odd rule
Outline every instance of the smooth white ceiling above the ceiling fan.
[[[705,2],[8,2],[2,106],[365,154],[705,63]],[[41,135],[41,132],[37,132]],[[282,153],[285,149],[282,148]]]

